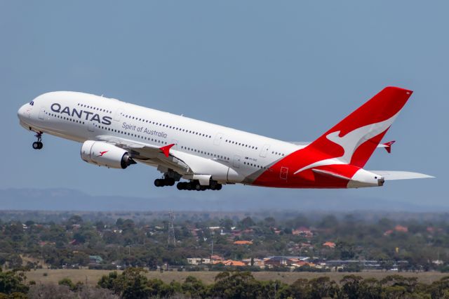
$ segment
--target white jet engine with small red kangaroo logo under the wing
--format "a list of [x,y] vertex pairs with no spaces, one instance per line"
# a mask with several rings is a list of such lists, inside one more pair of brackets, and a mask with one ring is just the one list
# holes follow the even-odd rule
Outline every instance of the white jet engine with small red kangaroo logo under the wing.
[[123,168],[135,164],[126,150],[106,142],[87,140],[81,147],[81,159],[87,163],[110,168]]

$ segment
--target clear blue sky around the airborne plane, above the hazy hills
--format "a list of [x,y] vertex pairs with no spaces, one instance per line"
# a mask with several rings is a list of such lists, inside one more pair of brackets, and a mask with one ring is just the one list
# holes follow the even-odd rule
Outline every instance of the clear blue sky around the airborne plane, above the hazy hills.
[[[360,197],[448,206],[447,1],[1,1],[0,188],[226,200]],[[155,188],[159,173],[86,164],[81,145],[18,124],[47,91],[104,94],[281,140],[314,140],[384,86],[415,93],[368,169],[432,180],[362,190]],[[1,207],[1,206],[0,206]],[[48,208],[48,207],[43,207]]]

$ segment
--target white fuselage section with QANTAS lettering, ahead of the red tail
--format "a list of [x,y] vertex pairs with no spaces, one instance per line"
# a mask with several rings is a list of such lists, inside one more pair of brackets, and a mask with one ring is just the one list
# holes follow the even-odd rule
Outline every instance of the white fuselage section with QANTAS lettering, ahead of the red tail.
[[[245,180],[248,176],[303,147],[88,93],[45,93],[32,103],[18,112],[20,124],[27,129],[77,142],[112,136],[154,147],[175,144],[172,150],[178,157],[187,157],[196,173],[217,178],[233,173],[229,180],[220,177],[222,183],[250,184]],[[137,160],[160,166],[151,160]],[[228,173],[207,173],[211,162],[221,164],[212,166],[217,168],[213,171]]]

